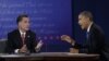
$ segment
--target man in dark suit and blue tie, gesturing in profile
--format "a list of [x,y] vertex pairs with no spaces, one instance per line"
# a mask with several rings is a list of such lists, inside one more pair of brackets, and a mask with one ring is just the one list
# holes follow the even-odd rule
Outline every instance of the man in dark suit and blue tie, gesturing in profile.
[[86,41],[83,45],[78,45],[68,35],[62,35],[61,39],[70,42],[76,52],[98,53],[101,60],[106,60],[104,56],[105,35],[102,29],[93,22],[92,13],[88,11],[80,13],[78,25],[86,30]]

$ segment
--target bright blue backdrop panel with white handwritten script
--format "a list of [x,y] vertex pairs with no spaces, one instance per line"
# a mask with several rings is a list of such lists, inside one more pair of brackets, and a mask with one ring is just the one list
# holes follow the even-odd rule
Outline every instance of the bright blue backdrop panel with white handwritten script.
[[44,41],[41,51],[69,51],[61,41],[63,34],[72,36],[71,0],[0,0],[0,39],[16,28],[16,16],[26,13],[31,29]]

